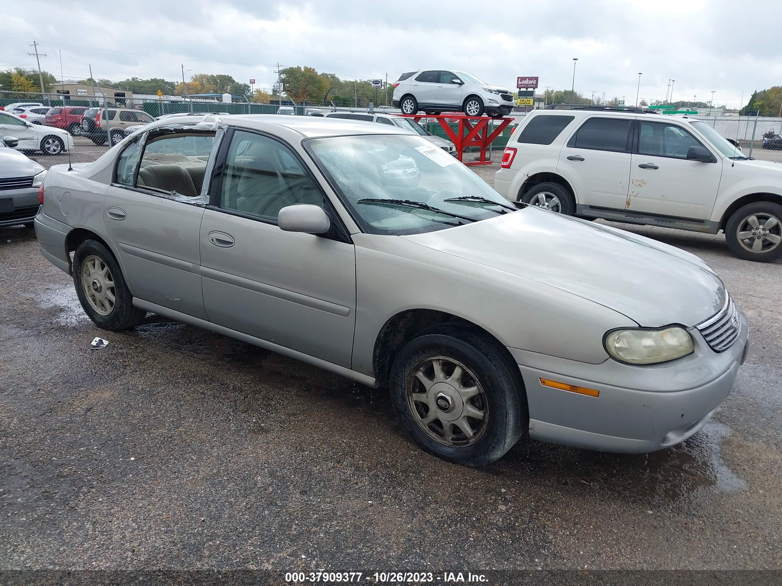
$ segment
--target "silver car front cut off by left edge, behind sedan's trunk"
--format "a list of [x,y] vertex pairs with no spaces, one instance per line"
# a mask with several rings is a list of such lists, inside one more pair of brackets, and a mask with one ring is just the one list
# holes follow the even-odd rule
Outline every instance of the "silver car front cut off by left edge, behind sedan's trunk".
[[46,170],[15,151],[18,143],[14,137],[0,140],[0,226],[30,227],[38,213],[38,191]]

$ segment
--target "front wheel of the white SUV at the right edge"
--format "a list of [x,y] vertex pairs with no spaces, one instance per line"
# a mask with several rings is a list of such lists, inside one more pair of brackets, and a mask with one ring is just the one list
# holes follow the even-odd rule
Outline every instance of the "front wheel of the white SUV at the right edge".
[[782,256],[782,205],[753,202],[737,209],[726,224],[725,240],[740,259],[777,260]]

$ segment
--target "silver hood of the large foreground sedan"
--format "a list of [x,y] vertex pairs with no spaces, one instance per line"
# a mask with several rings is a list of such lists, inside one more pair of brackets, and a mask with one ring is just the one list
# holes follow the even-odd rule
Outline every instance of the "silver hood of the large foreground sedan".
[[532,206],[402,238],[569,291],[644,327],[694,326],[725,301],[719,277],[689,252]]

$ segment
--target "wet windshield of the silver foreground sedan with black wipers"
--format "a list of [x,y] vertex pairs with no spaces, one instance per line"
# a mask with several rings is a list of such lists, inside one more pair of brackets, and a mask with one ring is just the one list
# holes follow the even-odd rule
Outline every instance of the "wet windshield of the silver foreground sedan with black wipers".
[[421,137],[364,134],[305,145],[361,230],[420,234],[516,211],[454,157]]

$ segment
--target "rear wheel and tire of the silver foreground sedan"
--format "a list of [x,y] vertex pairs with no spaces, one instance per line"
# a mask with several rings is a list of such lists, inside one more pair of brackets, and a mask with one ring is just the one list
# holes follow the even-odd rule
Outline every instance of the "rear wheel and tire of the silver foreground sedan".
[[146,312],[133,306],[114,255],[97,240],[85,240],[74,254],[74,286],[84,313],[102,330],[117,331],[142,323]]

